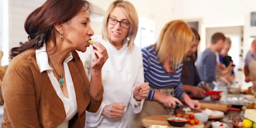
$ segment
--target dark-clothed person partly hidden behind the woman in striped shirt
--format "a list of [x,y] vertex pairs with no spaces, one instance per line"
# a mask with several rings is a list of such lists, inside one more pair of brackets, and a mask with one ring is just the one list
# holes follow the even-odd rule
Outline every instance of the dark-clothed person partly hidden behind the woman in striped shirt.
[[206,91],[213,91],[210,87],[206,85],[201,85],[201,87],[197,87],[200,85],[201,80],[196,71],[194,62],[196,60],[195,53],[198,50],[198,45],[200,42],[200,35],[198,31],[191,27],[192,32],[194,33],[195,40],[192,46],[189,48],[186,57],[183,58],[183,69],[181,72],[181,83],[183,83],[184,90],[195,97],[193,99],[203,99],[205,97]]

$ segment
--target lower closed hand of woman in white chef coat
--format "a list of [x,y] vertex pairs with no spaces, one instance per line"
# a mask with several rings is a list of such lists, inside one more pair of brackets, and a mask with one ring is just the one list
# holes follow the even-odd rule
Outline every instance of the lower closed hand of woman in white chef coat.
[[126,105],[120,102],[115,102],[110,105],[106,105],[102,111],[102,115],[107,116],[111,119],[122,116]]

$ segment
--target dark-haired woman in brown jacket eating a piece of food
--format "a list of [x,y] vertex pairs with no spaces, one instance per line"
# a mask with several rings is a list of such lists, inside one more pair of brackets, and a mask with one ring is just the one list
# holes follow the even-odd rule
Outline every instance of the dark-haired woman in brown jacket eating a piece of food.
[[94,34],[92,6],[83,0],[48,0],[26,19],[28,41],[10,51],[3,78],[2,127],[84,127],[86,110],[96,112],[108,58],[100,43],[88,80],[75,50],[85,52]]

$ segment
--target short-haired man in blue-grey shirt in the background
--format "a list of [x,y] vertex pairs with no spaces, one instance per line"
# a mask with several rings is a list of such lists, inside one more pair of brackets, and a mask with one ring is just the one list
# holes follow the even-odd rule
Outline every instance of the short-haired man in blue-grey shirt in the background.
[[195,61],[196,71],[198,71],[200,80],[204,82],[202,85],[209,86],[212,89],[215,87],[217,67],[215,53],[219,53],[223,49],[225,38],[223,33],[214,33],[214,35],[211,36],[210,46],[201,52]]

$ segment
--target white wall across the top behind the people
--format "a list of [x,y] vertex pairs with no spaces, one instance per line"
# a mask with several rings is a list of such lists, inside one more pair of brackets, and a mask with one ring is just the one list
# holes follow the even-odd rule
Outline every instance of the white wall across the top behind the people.
[[[106,10],[113,0],[89,0],[93,6]],[[201,37],[205,39],[205,27],[244,26],[244,51],[249,50],[248,40],[256,35],[256,27],[250,27],[250,12],[256,11],[254,0],[129,0],[139,17],[155,22],[155,37],[164,24],[173,19],[200,19]],[[9,46],[27,41],[24,21],[29,13],[45,0],[9,0]],[[96,8],[95,8],[96,9]],[[201,43],[201,45],[204,45]],[[8,55],[8,53],[5,53]]]

